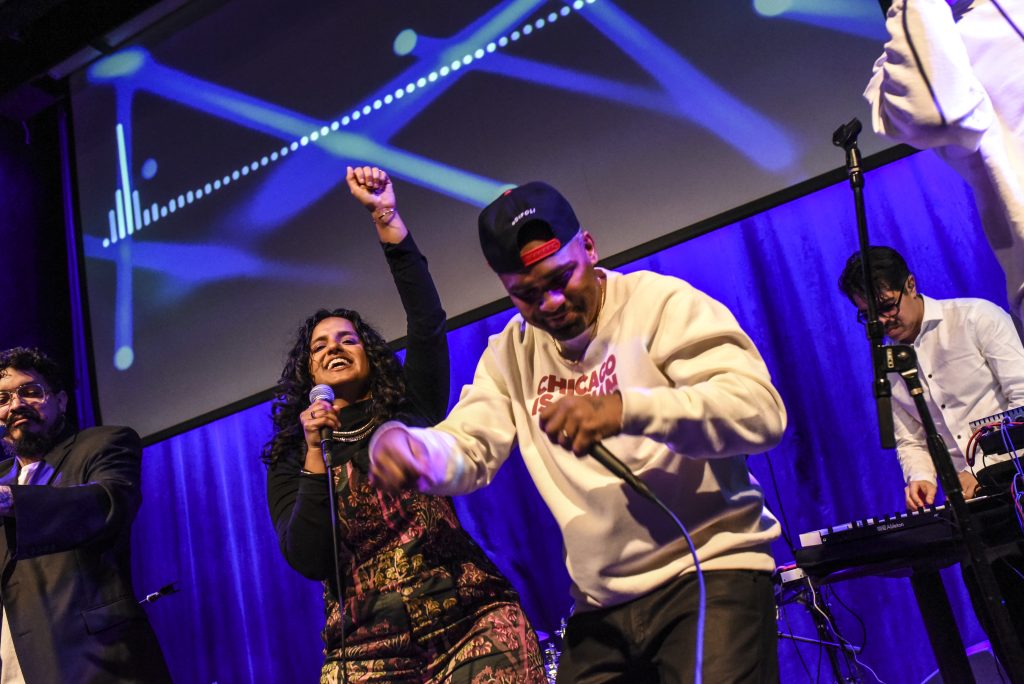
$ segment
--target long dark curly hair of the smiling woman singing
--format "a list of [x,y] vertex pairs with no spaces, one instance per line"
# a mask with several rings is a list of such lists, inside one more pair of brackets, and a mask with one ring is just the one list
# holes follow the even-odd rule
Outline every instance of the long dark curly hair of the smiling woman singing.
[[263,463],[272,466],[282,459],[298,457],[304,438],[299,414],[309,405],[309,390],[313,387],[309,372],[309,339],[313,329],[325,318],[345,318],[355,328],[370,361],[370,413],[381,421],[393,418],[406,398],[406,376],[401,364],[381,334],[371,328],[350,309],[319,309],[299,328],[295,344],[288,353],[281,380],[275,387],[270,414],[274,434],[263,446]]

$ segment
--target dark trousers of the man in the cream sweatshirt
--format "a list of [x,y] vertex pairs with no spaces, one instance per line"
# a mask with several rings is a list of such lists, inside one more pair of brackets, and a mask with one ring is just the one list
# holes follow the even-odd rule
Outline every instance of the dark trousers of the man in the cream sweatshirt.
[[[769,573],[714,570],[705,572],[705,584],[703,681],[778,682]],[[692,682],[698,596],[689,572],[628,603],[572,615],[558,684]]]

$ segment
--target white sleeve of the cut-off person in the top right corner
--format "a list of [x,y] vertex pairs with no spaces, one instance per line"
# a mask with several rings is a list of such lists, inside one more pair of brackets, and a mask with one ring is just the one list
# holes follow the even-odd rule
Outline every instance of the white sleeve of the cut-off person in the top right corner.
[[874,131],[919,148],[977,149],[994,115],[949,5],[895,0],[886,30],[890,39],[864,90]]

